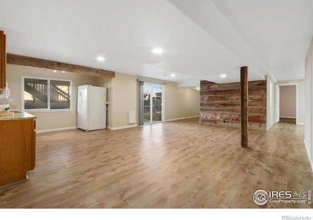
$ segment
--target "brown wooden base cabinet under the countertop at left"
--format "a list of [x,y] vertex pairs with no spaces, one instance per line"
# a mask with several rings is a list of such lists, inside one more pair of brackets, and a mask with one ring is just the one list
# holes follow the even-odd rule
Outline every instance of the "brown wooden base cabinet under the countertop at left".
[[27,179],[35,167],[36,121],[0,120],[0,187]]

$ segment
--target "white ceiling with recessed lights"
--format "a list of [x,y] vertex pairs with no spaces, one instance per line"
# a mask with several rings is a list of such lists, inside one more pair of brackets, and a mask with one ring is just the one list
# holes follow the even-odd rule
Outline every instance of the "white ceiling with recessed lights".
[[8,53],[181,87],[239,82],[241,66],[250,81],[298,80],[313,0],[0,0],[0,30]]

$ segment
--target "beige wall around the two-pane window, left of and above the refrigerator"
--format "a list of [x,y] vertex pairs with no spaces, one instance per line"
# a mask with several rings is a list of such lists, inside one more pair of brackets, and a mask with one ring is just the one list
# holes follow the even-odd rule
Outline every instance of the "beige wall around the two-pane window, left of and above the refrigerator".
[[[31,112],[37,116],[37,131],[53,131],[58,129],[76,128],[77,126],[77,87],[85,84],[96,86],[97,77],[76,73],[53,72],[51,69],[36,68],[30,66],[7,65],[7,83],[10,88],[10,98],[13,102],[0,99],[0,103],[10,104],[12,109],[22,109],[22,76],[35,76],[54,79],[66,79],[72,81],[72,110],[57,112]],[[27,110],[25,110],[27,112]]]

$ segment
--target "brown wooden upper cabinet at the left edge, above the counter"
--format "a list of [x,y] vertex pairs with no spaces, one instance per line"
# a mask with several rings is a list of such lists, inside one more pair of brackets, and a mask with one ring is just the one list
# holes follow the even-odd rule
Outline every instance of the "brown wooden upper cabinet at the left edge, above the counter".
[[6,37],[0,31],[0,94],[6,87]]

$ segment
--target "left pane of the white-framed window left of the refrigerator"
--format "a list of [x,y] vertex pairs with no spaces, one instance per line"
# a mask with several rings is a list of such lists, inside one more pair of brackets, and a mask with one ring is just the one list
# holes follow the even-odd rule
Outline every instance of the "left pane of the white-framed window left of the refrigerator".
[[48,81],[24,79],[24,109],[48,108]]

